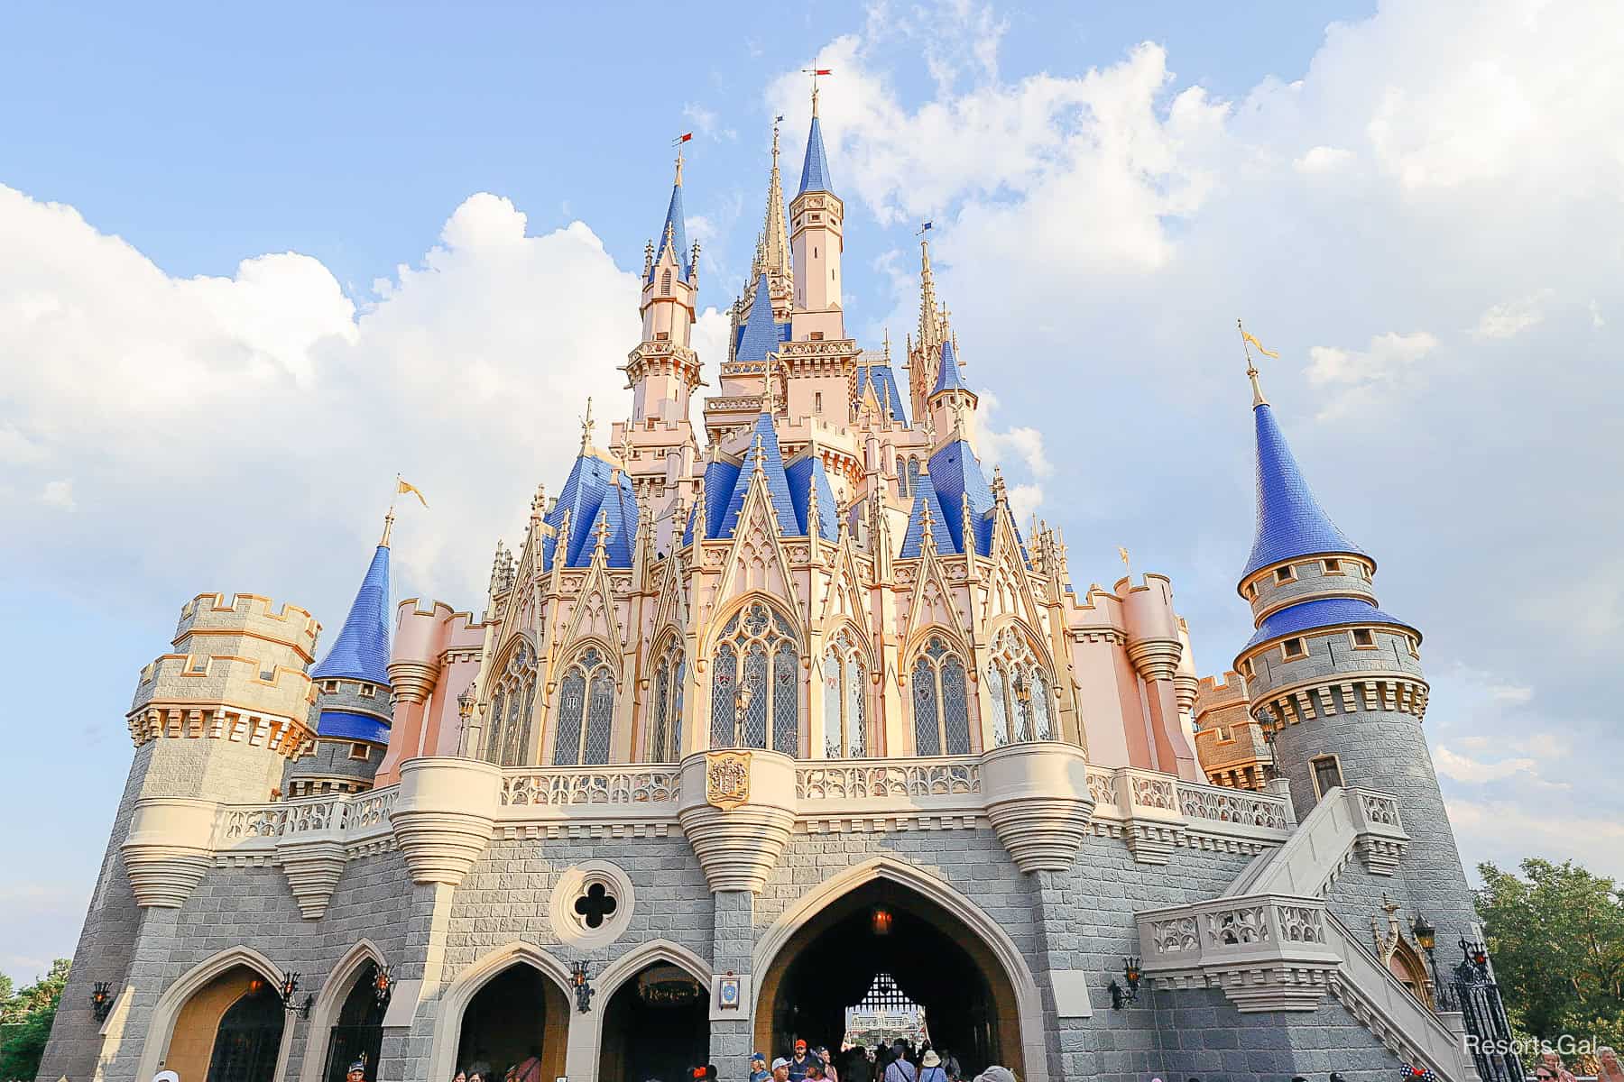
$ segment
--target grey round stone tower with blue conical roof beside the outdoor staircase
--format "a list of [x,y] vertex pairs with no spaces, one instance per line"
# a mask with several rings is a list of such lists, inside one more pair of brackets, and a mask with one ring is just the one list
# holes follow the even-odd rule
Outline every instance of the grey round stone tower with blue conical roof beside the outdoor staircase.
[[[1470,938],[1471,899],[1421,732],[1421,633],[1377,607],[1376,560],[1332,522],[1273,407],[1252,380],[1257,535],[1237,589],[1257,631],[1236,655],[1247,704],[1273,745],[1298,818],[1333,787],[1398,796],[1408,857],[1398,873],[1439,938]],[[1395,891],[1397,892],[1397,891]]]

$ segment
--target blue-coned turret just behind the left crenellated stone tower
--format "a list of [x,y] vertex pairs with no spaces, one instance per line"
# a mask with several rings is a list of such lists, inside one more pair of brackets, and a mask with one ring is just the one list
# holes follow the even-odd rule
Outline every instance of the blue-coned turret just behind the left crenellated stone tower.
[[356,600],[331,649],[310,670],[317,701],[310,709],[315,740],[309,753],[287,764],[287,796],[354,793],[372,788],[390,743],[393,719],[390,685],[390,526],[361,579]]

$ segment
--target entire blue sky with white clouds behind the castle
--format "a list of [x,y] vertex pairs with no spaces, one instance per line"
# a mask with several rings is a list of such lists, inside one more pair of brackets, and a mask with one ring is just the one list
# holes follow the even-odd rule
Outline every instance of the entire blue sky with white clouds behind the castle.
[[1073,579],[1127,545],[1202,672],[1246,639],[1246,315],[1322,501],[1427,633],[1468,865],[1624,873],[1621,45],[1613,15],[1514,0],[11,11],[0,970],[71,952],[135,675],[188,597],[336,629],[403,470],[434,511],[396,592],[477,603],[581,399],[622,409],[687,130],[719,342],[814,57],[848,326],[913,326],[934,219],[984,457]]

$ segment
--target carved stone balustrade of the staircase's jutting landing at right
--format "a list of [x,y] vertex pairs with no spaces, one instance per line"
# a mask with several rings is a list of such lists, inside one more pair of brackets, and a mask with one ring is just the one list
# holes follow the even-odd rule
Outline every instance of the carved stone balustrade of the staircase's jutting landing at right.
[[1140,965],[1169,988],[1221,988],[1242,1012],[1314,1011],[1341,955],[1322,899],[1247,894],[1138,913]]

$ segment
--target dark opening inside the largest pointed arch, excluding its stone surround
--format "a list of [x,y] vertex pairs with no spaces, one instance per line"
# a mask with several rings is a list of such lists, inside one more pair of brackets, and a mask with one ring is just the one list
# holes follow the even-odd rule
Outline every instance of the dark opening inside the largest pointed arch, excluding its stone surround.
[[757,970],[763,973],[757,1048],[784,1054],[797,1038],[831,1050],[846,1037],[861,1038],[848,1030],[856,1017],[848,1012],[879,981],[921,1011],[932,1046],[957,1056],[965,1077],[991,1064],[1026,1077],[1023,996],[1000,951],[942,902],[869,873],[815,912],[780,925],[794,928]]

